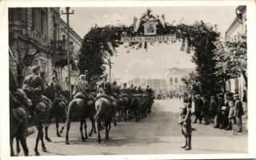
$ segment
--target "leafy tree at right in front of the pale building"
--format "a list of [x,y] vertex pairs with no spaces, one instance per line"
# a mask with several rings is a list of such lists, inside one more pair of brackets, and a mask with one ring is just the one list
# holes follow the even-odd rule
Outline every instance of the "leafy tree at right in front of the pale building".
[[[247,87],[247,40],[246,34],[241,35],[238,40],[221,39],[214,42],[214,59],[217,61],[215,72],[216,76],[223,79],[224,82],[230,78],[243,76]],[[225,84],[223,88],[225,89]]]

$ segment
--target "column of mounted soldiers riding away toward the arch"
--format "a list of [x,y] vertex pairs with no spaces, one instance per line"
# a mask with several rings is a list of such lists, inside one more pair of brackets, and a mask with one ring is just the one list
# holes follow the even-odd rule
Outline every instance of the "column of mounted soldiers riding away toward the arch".
[[[118,107],[118,105],[120,105],[118,101],[119,98],[126,97],[129,98],[131,102],[133,100],[132,98],[134,97],[139,97],[142,99],[145,97],[147,103],[143,103],[148,104],[148,108],[146,109],[147,114],[151,112],[151,106],[154,102],[154,93],[149,86],[147,86],[146,90],[142,89],[140,86],[137,88],[133,85],[128,88],[125,83],[121,89],[120,86],[117,86],[116,82],[113,82],[112,84],[110,82],[106,82],[107,78],[105,76],[100,78],[100,81],[97,83],[97,87],[95,89],[91,89],[90,85],[86,81],[86,75],[84,74],[78,76],[77,84],[74,86],[73,98],[70,98],[68,96],[69,91],[62,90],[62,86],[55,76],[51,78],[52,82],[50,82],[50,84],[46,84],[45,78],[42,74],[40,74],[42,73],[40,66],[33,66],[32,71],[33,74],[26,76],[22,89],[19,89],[14,78],[14,74],[12,74],[10,70],[11,156],[14,156],[14,138],[16,138],[17,142],[17,154],[20,151],[20,142],[22,149],[24,150],[24,154],[26,156],[28,155],[29,150],[26,146],[26,137],[34,133],[34,128],[31,126],[36,126],[38,130],[38,136],[36,138],[36,144],[34,148],[35,155],[40,155],[38,152],[39,141],[42,142],[42,151],[46,152],[46,146],[43,142],[43,127],[45,127],[46,140],[51,141],[48,137],[47,130],[50,126],[51,118],[53,118],[53,114],[55,114],[54,118],[56,121],[57,135],[60,137],[60,134],[58,133],[57,121],[59,122],[63,117],[65,117],[65,114],[68,111],[66,108],[69,105],[69,102],[72,101],[72,99],[74,100],[74,98],[81,98],[85,100],[85,107],[88,105],[89,108],[95,108],[94,102],[98,98],[106,98],[111,102],[111,110],[122,110],[122,106]],[[61,110],[64,110],[64,112],[61,113]],[[129,111],[131,112],[131,117],[136,116],[134,115],[133,110]],[[56,114],[61,115],[57,117]],[[90,109],[90,114],[93,114],[92,109]],[[119,116],[120,114],[123,113],[119,112]],[[136,120],[140,120],[140,114],[137,115],[138,119],[136,117]],[[115,121],[115,114],[113,115],[113,121]],[[63,128],[64,127],[62,127],[62,129]]]

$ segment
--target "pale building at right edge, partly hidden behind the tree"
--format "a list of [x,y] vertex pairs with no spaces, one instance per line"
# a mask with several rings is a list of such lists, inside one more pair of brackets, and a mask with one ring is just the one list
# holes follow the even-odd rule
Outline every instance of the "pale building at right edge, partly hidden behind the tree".
[[[226,30],[225,39],[238,40],[241,34],[246,34],[246,6],[236,8],[236,18]],[[232,78],[226,81],[226,90],[238,92],[240,98],[243,96],[243,90],[246,90],[246,83],[241,74],[239,78]]]

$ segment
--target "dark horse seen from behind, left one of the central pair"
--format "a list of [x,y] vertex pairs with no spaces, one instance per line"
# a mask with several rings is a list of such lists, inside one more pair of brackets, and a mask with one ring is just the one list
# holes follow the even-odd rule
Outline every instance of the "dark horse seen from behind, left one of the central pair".
[[[93,134],[93,132],[96,134],[96,127],[95,127],[95,121],[93,118],[93,108],[91,108],[91,104],[89,104],[91,101],[86,102],[85,99],[83,98],[74,98],[67,109],[67,117],[66,117],[66,122],[64,124],[64,126],[62,126],[62,130],[60,130],[60,134],[62,134],[64,127],[66,126],[66,145],[70,144],[69,141],[69,131],[70,131],[70,123],[71,123],[71,118],[74,115],[78,115],[78,117],[80,118],[80,133],[81,133],[81,138],[82,138],[82,142],[86,141],[86,138],[88,138],[87,135],[87,126],[86,126],[86,118],[90,118],[90,121],[92,122],[92,127],[89,133],[89,137]],[[83,131],[82,131],[82,126],[84,126],[85,129],[85,136],[83,135]]]

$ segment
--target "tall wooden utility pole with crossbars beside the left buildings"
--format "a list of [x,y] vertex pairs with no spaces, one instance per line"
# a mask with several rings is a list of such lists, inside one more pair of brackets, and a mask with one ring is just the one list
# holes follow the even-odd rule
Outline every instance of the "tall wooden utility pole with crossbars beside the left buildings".
[[70,7],[66,7],[66,24],[67,24],[67,72],[68,72],[68,90],[70,90],[70,98],[72,97],[71,81],[70,81],[70,14],[74,14],[74,10],[70,12]]

